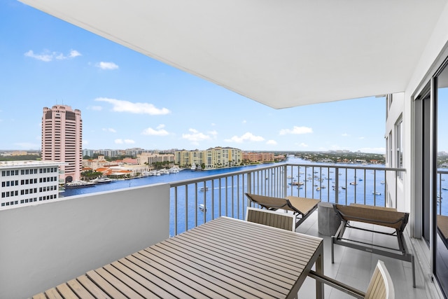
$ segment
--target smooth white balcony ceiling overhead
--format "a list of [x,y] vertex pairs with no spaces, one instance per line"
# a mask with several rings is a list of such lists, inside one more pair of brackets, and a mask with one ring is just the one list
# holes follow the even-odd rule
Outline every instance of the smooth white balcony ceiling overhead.
[[21,0],[275,109],[405,90],[447,0]]

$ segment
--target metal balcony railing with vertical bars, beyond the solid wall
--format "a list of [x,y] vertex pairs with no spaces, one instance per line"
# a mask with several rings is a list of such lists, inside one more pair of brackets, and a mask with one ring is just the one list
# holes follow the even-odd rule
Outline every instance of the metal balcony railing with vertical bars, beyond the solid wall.
[[170,183],[170,235],[219,216],[244,219],[250,204],[245,193],[397,207],[400,172],[405,169],[281,163],[176,181]]

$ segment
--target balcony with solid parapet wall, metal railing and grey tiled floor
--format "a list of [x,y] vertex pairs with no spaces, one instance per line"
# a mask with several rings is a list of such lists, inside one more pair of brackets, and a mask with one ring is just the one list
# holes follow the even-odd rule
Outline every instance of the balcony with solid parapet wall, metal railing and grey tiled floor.
[[[27,298],[219,216],[244,219],[246,207],[251,205],[246,192],[400,210],[398,173],[402,171],[279,164],[3,209],[0,298]],[[201,204],[206,209],[200,209]],[[410,238],[407,230],[405,239],[416,258],[416,288],[412,287],[411,264],[402,260],[335,245],[335,263],[331,263],[331,237],[319,234],[318,211],[296,231],[323,237],[324,272],[329,277],[365,291],[374,266],[381,259],[391,273],[395,298],[443,298],[437,282],[430,278],[426,243]],[[372,232],[356,234],[367,242],[394,242],[391,237],[378,237]],[[314,280],[308,277],[298,296],[314,298],[315,291]],[[325,287],[325,298],[346,295]]]

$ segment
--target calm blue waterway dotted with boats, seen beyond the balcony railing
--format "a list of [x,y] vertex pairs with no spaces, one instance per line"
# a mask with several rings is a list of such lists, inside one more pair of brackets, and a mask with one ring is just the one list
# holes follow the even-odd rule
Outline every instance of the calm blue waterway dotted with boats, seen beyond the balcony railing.
[[[290,158],[288,163],[310,164],[310,162],[298,158]],[[282,164],[284,163],[276,163],[274,165]],[[190,169],[184,169],[177,174],[164,174],[161,176],[147,176],[139,179],[114,181],[113,183],[99,184],[89,188],[66,189],[64,193],[60,193],[60,196],[69,197],[106,190],[145,186],[154,183],[183,181],[217,174],[228,174],[241,170],[253,170],[266,166],[253,165],[202,172],[192,172]],[[336,190],[332,186],[335,184],[337,176],[339,179],[339,189],[337,190],[339,203],[350,204],[356,200],[358,203],[384,206],[384,194],[386,191],[386,185],[383,183],[385,180],[384,171],[374,172],[372,169],[358,169],[355,172],[355,169],[335,169],[335,167],[345,166],[352,167],[353,165],[328,164],[328,167],[326,165],[325,167],[288,167],[288,182],[300,181],[304,182],[304,184],[302,186],[288,185],[287,195],[317,198],[325,202],[335,202]],[[372,165],[368,166],[372,167]],[[382,167],[384,166],[379,165],[375,168],[381,169]],[[278,169],[277,172],[279,172]],[[283,177],[283,174],[266,170],[253,176],[256,176],[253,182],[255,186],[252,186],[253,190],[257,190],[261,194],[275,196],[275,194],[269,194],[269,192],[276,190],[276,181],[278,181],[279,176]],[[351,182],[356,182],[356,184],[350,184]],[[170,193],[170,235],[176,235],[176,233],[183,232],[221,215],[244,218],[246,210],[244,188],[247,187],[247,184],[248,182],[243,181],[242,176],[238,176],[234,179],[230,177],[228,179],[209,180],[206,181],[205,185],[204,183],[198,183],[197,186],[190,184],[188,186],[178,187],[177,202],[175,202],[174,192]],[[200,190],[202,186],[207,186],[207,190]],[[269,188],[269,186],[272,188]],[[318,187],[321,190],[316,190]],[[374,194],[374,192],[377,194]],[[447,196],[448,198],[448,190],[442,190],[441,193],[442,197]],[[204,204],[207,210],[201,211],[198,208],[200,204]],[[442,207],[440,207],[440,204],[437,204],[437,206],[440,209],[437,211],[439,214],[448,214],[448,204],[443,202]],[[175,213],[177,214],[176,217],[174,217]],[[175,218],[177,218],[177,223],[174,222]]]

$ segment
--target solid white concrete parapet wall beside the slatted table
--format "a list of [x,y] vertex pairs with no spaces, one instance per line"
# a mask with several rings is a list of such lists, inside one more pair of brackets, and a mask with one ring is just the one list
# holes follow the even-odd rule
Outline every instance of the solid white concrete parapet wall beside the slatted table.
[[169,237],[169,185],[0,211],[0,298],[27,298]]

